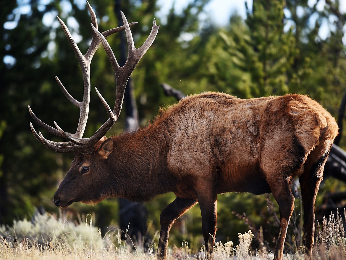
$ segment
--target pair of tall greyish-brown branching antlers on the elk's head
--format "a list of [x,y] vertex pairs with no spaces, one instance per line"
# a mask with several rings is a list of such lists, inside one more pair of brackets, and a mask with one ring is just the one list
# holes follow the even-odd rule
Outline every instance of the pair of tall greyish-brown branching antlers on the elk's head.
[[[42,142],[42,144],[47,146],[49,149],[56,151],[58,153],[65,153],[65,152],[70,152],[70,151],[80,151],[83,153],[92,153],[93,152],[94,144],[98,140],[100,140],[100,138],[113,126],[113,124],[118,119],[118,116],[119,116],[120,111],[121,111],[122,100],[124,98],[127,80],[129,79],[132,71],[135,69],[139,60],[143,57],[144,53],[148,50],[148,48],[153,43],[153,41],[157,35],[158,28],[160,27],[160,26],[157,26],[155,24],[155,19],[154,19],[153,28],[152,28],[152,31],[149,34],[147,40],[139,49],[136,49],[134,46],[131,31],[130,31],[130,26],[137,24],[137,23],[130,23],[129,24],[127,22],[125,16],[124,16],[124,14],[121,12],[122,19],[124,21],[124,26],[113,28],[113,29],[110,29],[110,30],[105,31],[103,33],[100,33],[98,31],[96,15],[95,15],[93,9],[91,8],[91,6],[89,5],[88,2],[87,2],[87,5],[88,5],[89,13],[91,16],[91,26],[93,29],[93,36],[92,36],[92,41],[91,41],[91,44],[89,46],[89,49],[85,55],[82,55],[81,51],[79,50],[78,46],[74,42],[73,37],[72,37],[71,33],[69,32],[69,30],[67,29],[64,22],[60,18],[57,17],[58,21],[60,22],[60,24],[61,24],[61,26],[65,32],[67,39],[69,40],[69,42],[72,46],[72,49],[74,50],[74,52],[77,56],[77,59],[80,63],[80,66],[82,69],[82,74],[83,74],[84,94],[83,94],[83,101],[82,102],[79,102],[76,99],[74,99],[67,92],[67,90],[65,89],[65,87],[63,86],[61,81],[57,77],[55,77],[56,81],[58,82],[58,85],[60,86],[62,92],[65,94],[67,99],[69,99],[69,101],[72,104],[74,104],[75,106],[78,106],[80,108],[81,112],[80,112],[80,118],[79,118],[78,127],[77,127],[76,132],[74,134],[71,134],[71,133],[63,131],[55,121],[54,121],[54,124],[56,126],[56,129],[45,124],[44,122],[42,122],[40,119],[37,118],[37,116],[33,113],[33,111],[31,110],[31,108],[29,106],[30,115],[33,117],[33,119],[35,120],[35,122],[37,124],[39,124],[43,129],[47,130],[49,133],[52,133],[53,135],[56,135],[59,137],[64,137],[67,140],[69,140],[67,142],[54,142],[54,141],[47,140],[43,137],[41,132],[37,133],[35,131],[32,123],[30,122],[31,131],[34,133],[34,136],[36,137],[36,139],[38,141]],[[128,53],[128,57],[127,57],[125,65],[123,67],[120,67],[118,65],[118,62],[117,62],[109,44],[108,44],[108,42],[106,41],[106,37],[113,34],[113,33],[119,32],[122,29],[125,29],[125,32],[126,32],[126,37],[127,37],[127,41],[128,41],[128,45],[129,45],[129,53]],[[106,50],[106,53],[107,53],[107,55],[111,61],[111,64],[112,64],[112,67],[113,67],[113,70],[114,70],[114,73],[116,76],[116,80],[117,80],[116,103],[115,103],[114,109],[112,111],[110,109],[109,105],[107,104],[107,102],[104,100],[104,98],[101,96],[101,94],[97,90],[97,88],[95,88],[99,98],[101,99],[104,107],[107,110],[109,119],[94,133],[94,135],[92,137],[82,138],[84,130],[85,130],[86,121],[88,120],[88,114],[89,114],[90,63],[91,63],[91,59],[92,59],[95,51],[97,50],[97,48],[101,42],[102,42],[102,45],[103,45],[104,49]]]

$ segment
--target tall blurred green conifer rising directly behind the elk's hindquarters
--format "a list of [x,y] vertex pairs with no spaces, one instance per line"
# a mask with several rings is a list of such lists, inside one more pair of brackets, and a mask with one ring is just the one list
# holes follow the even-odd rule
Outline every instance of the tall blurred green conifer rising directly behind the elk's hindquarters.
[[[254,1],[247,9],[246,24],[251,41],[245,68],[256,84],[255,96],[282,95],[289,92],[287,72],[298,50],[292,29],[283,33],[283,1]],[[241,47],[241,46],[240,46]]]

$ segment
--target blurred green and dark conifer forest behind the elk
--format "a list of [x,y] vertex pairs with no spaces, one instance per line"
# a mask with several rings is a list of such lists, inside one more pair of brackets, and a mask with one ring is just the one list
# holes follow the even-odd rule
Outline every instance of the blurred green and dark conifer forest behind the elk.
[[[131,27],[136,47],[149,35],[153,18],[162,25],[131,76],[140,123],[145,125],[160,107],[176,102],[164,95],[162,83],[184,94],[206,90],[242,98],[307,94],[337,117],[346,90],[346,15],[340,13],[338,0],[324,0],[322,10],[317,8],[321,1],[308,5],[311,1],[254,0],[251,8],[246,7],[245,20],[235,13],[222,28],[201,15],[208,0],[190,1],[181,12],[172,7],[165,19],[155,16],[160,10],[156,0],[121,1],[128,21],[138,22]],[[89,3],[99,19],[100,31],[120,26],[115,0]],[[29,11],[23,12],[27,5]],[[53,195],[74,157],[47,149],[29,127],[33,120],[28,104],[42,121],[53,125],[55,120],[65,131],[74,132],[78,122],[79,109],[66,99],[54,79],[58,76],[70,94],[81,99],[83,81],[78,61],[55,16],[65,21],[83,54],[92,30],[84,1],[0,1],[0,10],[0,224],[11,225],[13,219],[30,219],[40,206],[52,214],[58,212],[52,203]],[[54,21],[47,22],[51,17]],[[323,23],[328,25],[326,38],[319,36]],[[107,40],[119,57],[118,34]],[[115,79],[102,46],[91,63],[91,86],[85,137],[107,120],[93,87],[97,86],[111,107],[115,100]],[[108,135],[121,132],[124,125],[123,111]],[[49,133],[43,135],[58,140]],[[345,139],[341,140],[342,148],[346,148]],[[326,179],[321,184],[317,207],[327,193],[345,190],[345,183]],[[146,203],[151,236],[160,227],[161,210],[173,199],[173,194],[167,194]],[[273,214],[277,209],[271,208],[270,201],[274,200],[265,195],[220,195],[217,241],[235,241],[238,232],[246,232],[250,225],[257,230],[263,226],[268,231],[264,240],[272,243],[279,229]],[[119,225],[118,208],[117,199],[108,199],[95,206],[73,203],[65,211],[73,216],[93,213],[96,226],[105,232],[108,226]],[[298,225],[300,211],[297,199],[292,222]],[[171,243],[180,245],[182,240],[197,247],[202,243],[198,206],[171,231]]]

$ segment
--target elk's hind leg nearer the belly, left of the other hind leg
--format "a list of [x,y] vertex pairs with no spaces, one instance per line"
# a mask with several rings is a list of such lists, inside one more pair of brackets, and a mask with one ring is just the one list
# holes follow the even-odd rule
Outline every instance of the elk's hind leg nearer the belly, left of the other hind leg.
[[282,260],[287,228],[294,209],[294,196],[290,188],[291,177],[280,175],[267,180],[280,211],[280,232],[274,250],[274,260]]

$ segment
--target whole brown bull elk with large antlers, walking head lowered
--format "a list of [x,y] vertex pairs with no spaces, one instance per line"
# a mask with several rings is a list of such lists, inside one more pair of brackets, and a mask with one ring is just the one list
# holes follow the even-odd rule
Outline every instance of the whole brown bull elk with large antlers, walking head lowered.
[[[100,33],[88,3],[93,38],[82,55],[65,24],[58,18],[79,60],[84,78],[84,97],[76,101],[56,77],[66,97],[80,108],[76,133],[50,127],[31,111],[33,119],[48,132],[68,141],[47,140],[31,130],[38,141],[58,153],[74,152],[75,158],[54,195],[54,204],[97,203],[109,197],[148,201],[173,192],[176,199],[160,215],[158,258],[165,259],[170,228],[174,221],[199,203],[206,250],[215,243],[217,194],[225,192],[272,192],[280,207],[280,233],[274,259],[282,259],[285,236],[294,208],[290,184],[298,177],[304,209],[306,251],[311,255],[315,229],[315,199],[323,167],[338,133],[334,118],[317,102],[304,95],[241,99],[207,92],[182,99],[162,109],[156,119],[135,132],[106,138],[116,122],[126,82],[140,58],[153,43],[158,28],[155,19],[145,43],[136,49],[129,24]],[[131,25],[131,24],[130,24]],[[120,67],[105,37],[125,28],[129,45],[126,64]],[[97,91],[109,119],[90,138],[83,138],[89,112],[90,62],[102,43],[115,77],[113,111]]]

